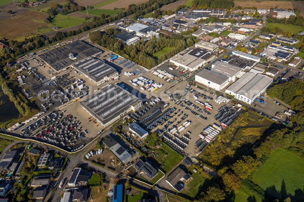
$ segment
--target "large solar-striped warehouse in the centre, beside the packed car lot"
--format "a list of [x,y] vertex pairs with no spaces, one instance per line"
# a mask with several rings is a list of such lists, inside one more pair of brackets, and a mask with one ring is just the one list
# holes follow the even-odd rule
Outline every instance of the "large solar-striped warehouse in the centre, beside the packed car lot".
[[103,87],[100,92],[81,102],[81,107],[102,126],[107,127],[123,118],[130,111],[136,111],[142,101],[116,84]]

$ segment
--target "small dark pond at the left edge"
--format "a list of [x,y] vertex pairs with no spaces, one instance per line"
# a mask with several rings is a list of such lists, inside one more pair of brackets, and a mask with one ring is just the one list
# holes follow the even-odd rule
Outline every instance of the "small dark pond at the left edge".
[[0,100],[6,101],[5,104],[0,105],[0,122],[5,122],[19,117],[18,109],[15,107],[14,103],[9,100],[9,97],[3,93],[1,86]]

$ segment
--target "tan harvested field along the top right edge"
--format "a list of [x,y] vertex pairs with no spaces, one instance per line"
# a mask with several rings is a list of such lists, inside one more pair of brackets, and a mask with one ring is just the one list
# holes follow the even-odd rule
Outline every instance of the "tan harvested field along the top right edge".
[[241,7],[248,7],[248,6],[255,6],[257,8],[291,8],[293,9],[293,2],[292,1],[234,1],[234,7],[241,6]]

